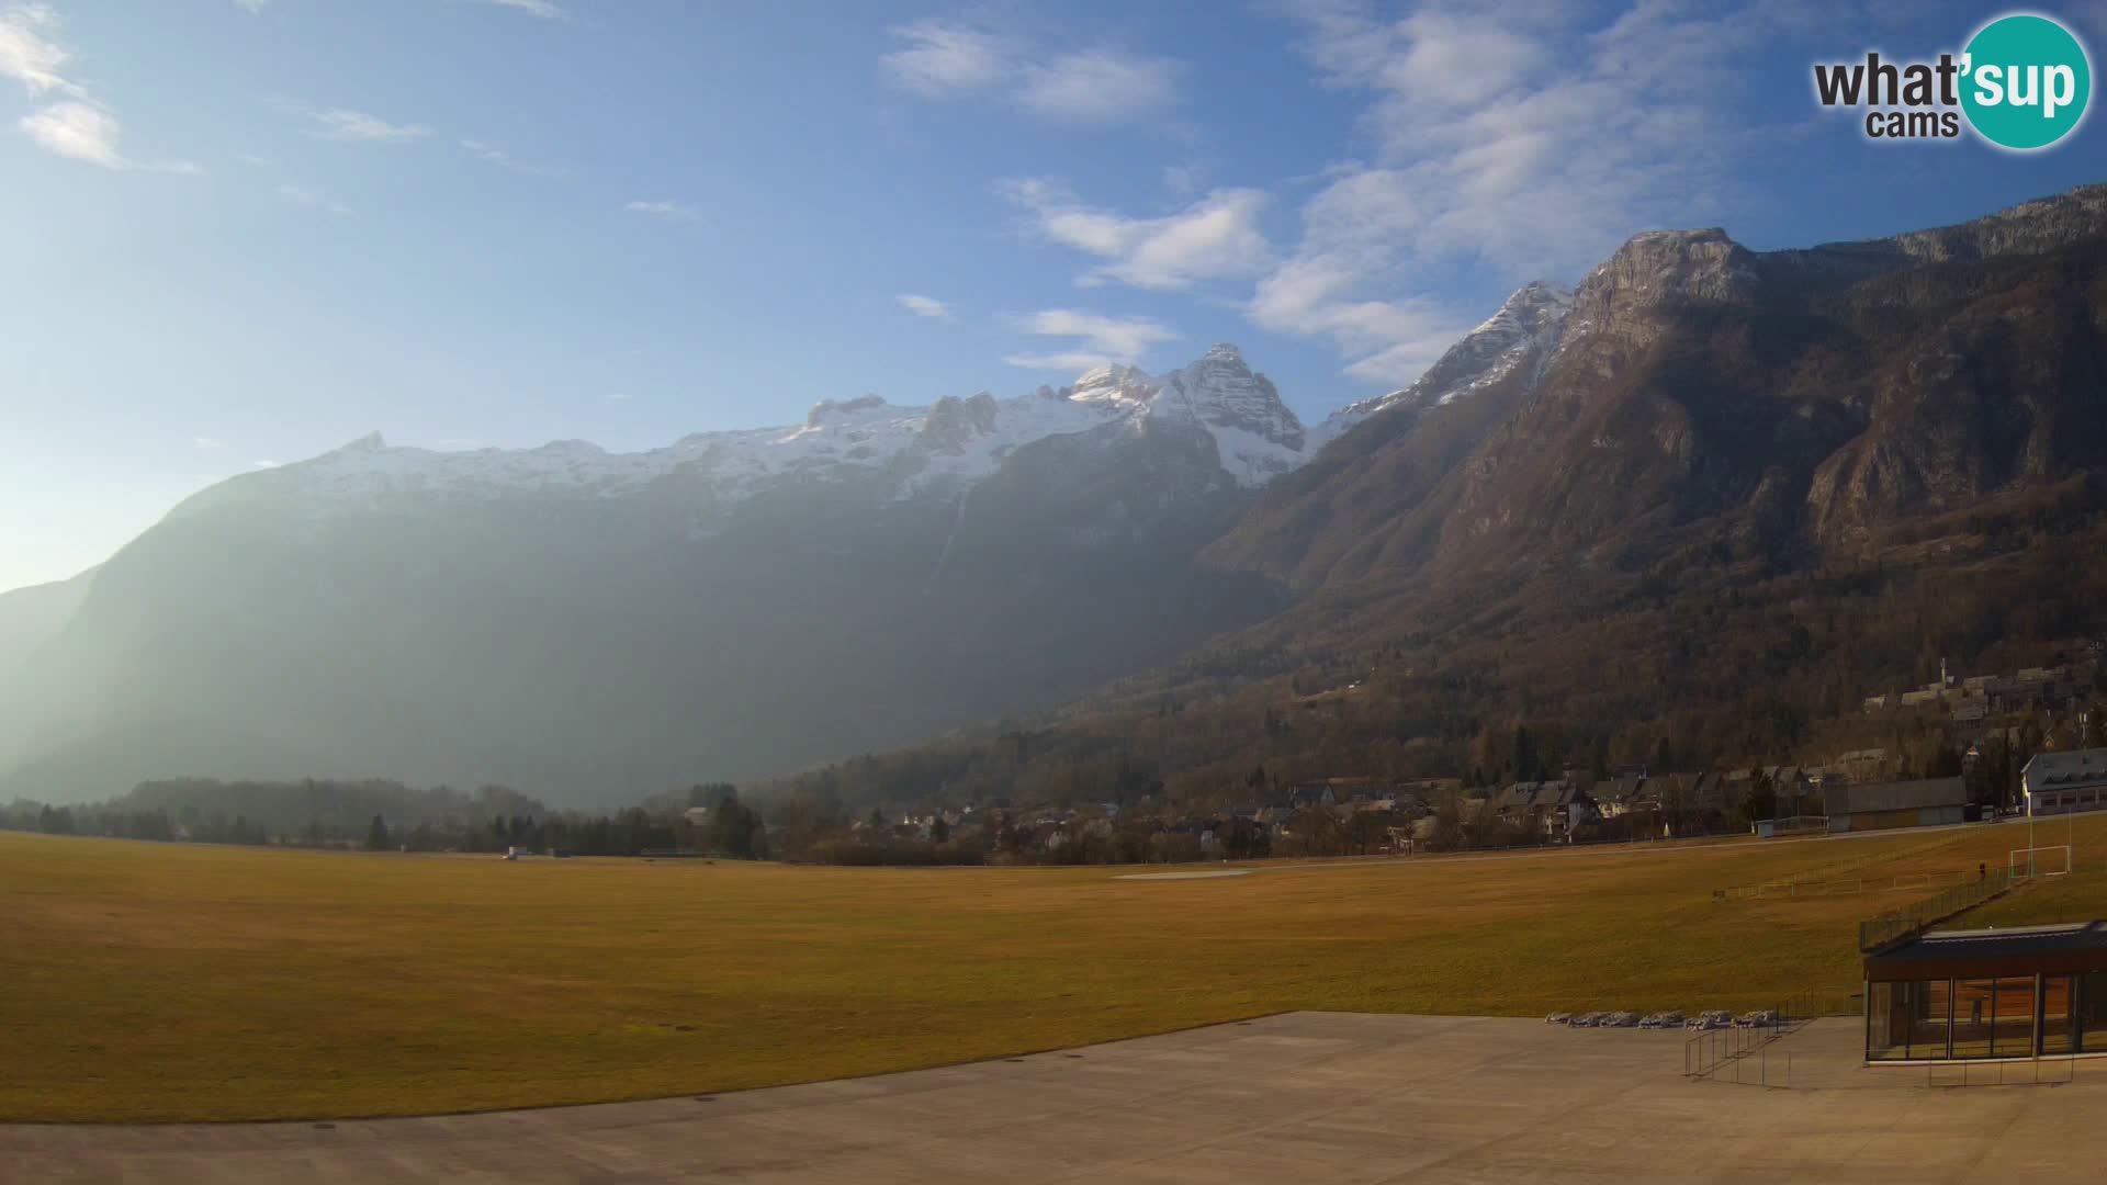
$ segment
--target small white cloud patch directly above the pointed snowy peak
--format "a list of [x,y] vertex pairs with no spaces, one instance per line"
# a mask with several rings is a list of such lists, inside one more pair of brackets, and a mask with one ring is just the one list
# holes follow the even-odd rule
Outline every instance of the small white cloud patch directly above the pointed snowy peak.
[[1127,217],[1083,205],[1064,186],[1026,177],[997,190],[1030,211],[1032,230],[1106,264],[1079,283],[1119,280],[1138,289],[1186,289],[1199,280],[1260,274],[1273,251],[1258,228],[1260,190],[1216,190],[1165,217]]

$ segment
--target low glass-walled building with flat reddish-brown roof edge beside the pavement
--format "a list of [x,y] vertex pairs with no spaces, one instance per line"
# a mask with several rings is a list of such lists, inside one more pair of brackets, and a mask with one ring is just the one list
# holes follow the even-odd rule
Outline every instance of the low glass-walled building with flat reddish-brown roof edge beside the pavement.
[[2107,1054],[2107,921],[1932,930],[1865,955],[1865,1061]]

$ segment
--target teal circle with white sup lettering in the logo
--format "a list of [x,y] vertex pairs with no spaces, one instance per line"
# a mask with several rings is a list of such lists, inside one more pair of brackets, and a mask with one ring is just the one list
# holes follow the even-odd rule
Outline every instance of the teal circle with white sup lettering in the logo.
[[2086,46],[2048,17],[1997,17],[1964,51],[1962,110],[1976,135],[2000,148],[2056,143],[2086,118],[2090,97]]

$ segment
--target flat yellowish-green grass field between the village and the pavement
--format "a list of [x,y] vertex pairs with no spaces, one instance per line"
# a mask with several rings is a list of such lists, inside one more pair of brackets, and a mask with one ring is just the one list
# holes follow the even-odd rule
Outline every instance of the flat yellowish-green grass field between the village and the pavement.
[[[2002,867],[2006,831],[1199,881],[0,833],[0,1118],[649,1099],[1294,1008],[1759,1008],[1854,991],[1856,919],[1915,894],[1717,905],[1713,888],[1823,877],[1869,852],[1882,858],[1848,875]],[[2082,860],[2099,865],[2103,841],[2107,820],[2080,824]]]

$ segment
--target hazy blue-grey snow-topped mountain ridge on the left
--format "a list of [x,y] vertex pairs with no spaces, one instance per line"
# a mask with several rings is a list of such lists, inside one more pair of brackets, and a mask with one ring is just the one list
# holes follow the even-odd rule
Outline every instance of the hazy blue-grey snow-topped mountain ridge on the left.
[[38,624],[0,759],[61,799],[331,774],[622,801],[902,744],[1275,609],[1193,552],[1304,443],[1230,346],[628,455],[369,436],[101,565]]

